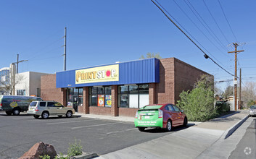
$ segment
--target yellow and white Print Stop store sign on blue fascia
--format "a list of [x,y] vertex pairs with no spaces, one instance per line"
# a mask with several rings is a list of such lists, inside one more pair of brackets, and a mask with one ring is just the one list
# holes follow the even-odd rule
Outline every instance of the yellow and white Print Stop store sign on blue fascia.
[[119,81],[119,64],[75,71],[75,84]]

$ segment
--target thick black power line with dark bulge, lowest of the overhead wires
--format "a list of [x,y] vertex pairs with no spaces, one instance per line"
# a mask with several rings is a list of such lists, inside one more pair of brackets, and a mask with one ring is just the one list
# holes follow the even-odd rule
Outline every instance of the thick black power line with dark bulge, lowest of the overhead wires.
[[[154,5],[156,5],[160,10],[161,10],[161,12],[163,13],[163,14],[165,14],[165,12],[153,1],[153,0],[151,0],[153,3],[154,3]],[[157,1],[157,3],[158,3],[158,1]],[[158,3],[159,4],[159,3]],[[170,20],[170,22],[173,22],[173,20],[171,20],[170,19],[170,17],[168,17],[168,15],[167,14],[165,14],[165,17],[167,17],[168,18],[168,20]],[[173,25],[175,25],[179,30],[181,30],[181,28],[180,27],[178,27],[178,25],[176,25],[176,23],[175,22],[173,22]],[[184,33],[183,32],[183,30],[181,30],[181,32],[184,34],[184,35],[186,35],[186,33]],[[186,35],[186,38],[189,38],[189,36],[188,35]],[[191,40],[191,38],[189,38],[189,40]],[[191,40],[191,42],[192,43],[194,43],[194,41],[193,40]],[[197,43],[194,43],[194,45],[195,46],[197,46]],[[199,46],[197,46],[197,48],[199,48],[199,50],[200,51],[202,51],[202,53],[205,53],[205,51],[203,51],[202,50],[202,48],[200,48]],[[208,56],[206,53],[205,53],[205,59],[211,59],[215,64],[217,64],[221,69],[223,69],[225,72],[227,72],[228,74],[231,74],[230,72],[228,72],[226,69],[224,69],[222,66],[220,66],[217,62],[215,62],[210,56]],[[233,74],[231,74],[231,76],[234,76]]]

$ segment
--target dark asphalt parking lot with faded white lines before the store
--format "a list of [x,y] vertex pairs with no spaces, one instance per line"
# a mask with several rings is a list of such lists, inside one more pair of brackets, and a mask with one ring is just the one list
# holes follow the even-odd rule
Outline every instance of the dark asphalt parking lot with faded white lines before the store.
[[[176,132],[182,127],[176,128]],[[132,122],[89,119],[80,116],[34,119],[22,113],[7,116],[0,111],[0,158],[18,158],[36,142],[54,146],[57,153],[66,153],[69,144],[80,140],[84,152],[103,155],[137,145],[173,132],[148,129],[139,132]],[[157,145],[156,145],[157,146]]]

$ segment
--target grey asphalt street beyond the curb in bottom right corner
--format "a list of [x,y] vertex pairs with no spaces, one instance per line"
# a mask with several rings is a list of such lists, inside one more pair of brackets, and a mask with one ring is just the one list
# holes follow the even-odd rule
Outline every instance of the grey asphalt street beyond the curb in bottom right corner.
[[[252,117],[249,117],[252,118]],[[236,145],[236,149],[231,152],[230,159],[233,158],[256,158],[256,118],[248,126],[244,137],[240,140],[239,144]]]

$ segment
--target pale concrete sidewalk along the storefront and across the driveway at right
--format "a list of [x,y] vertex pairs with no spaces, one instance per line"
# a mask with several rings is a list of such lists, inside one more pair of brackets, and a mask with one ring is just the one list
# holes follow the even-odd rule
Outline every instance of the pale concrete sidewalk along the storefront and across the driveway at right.
[[[134,119],[123,116],[78,113],[76,115],[117,121],[133,122]],[[247,111],[237,111],[202,123],[189,122],[189,124],[195,125],[139,145],[101,155],[99,158],[228,158],[245,132],[238,130],[239,133],[234,133],[235,137],[232,137],[231,134],[247,118]],[[243,124],[242,126],[247,125]],[[231,137],[229,137],[230,135]]]

